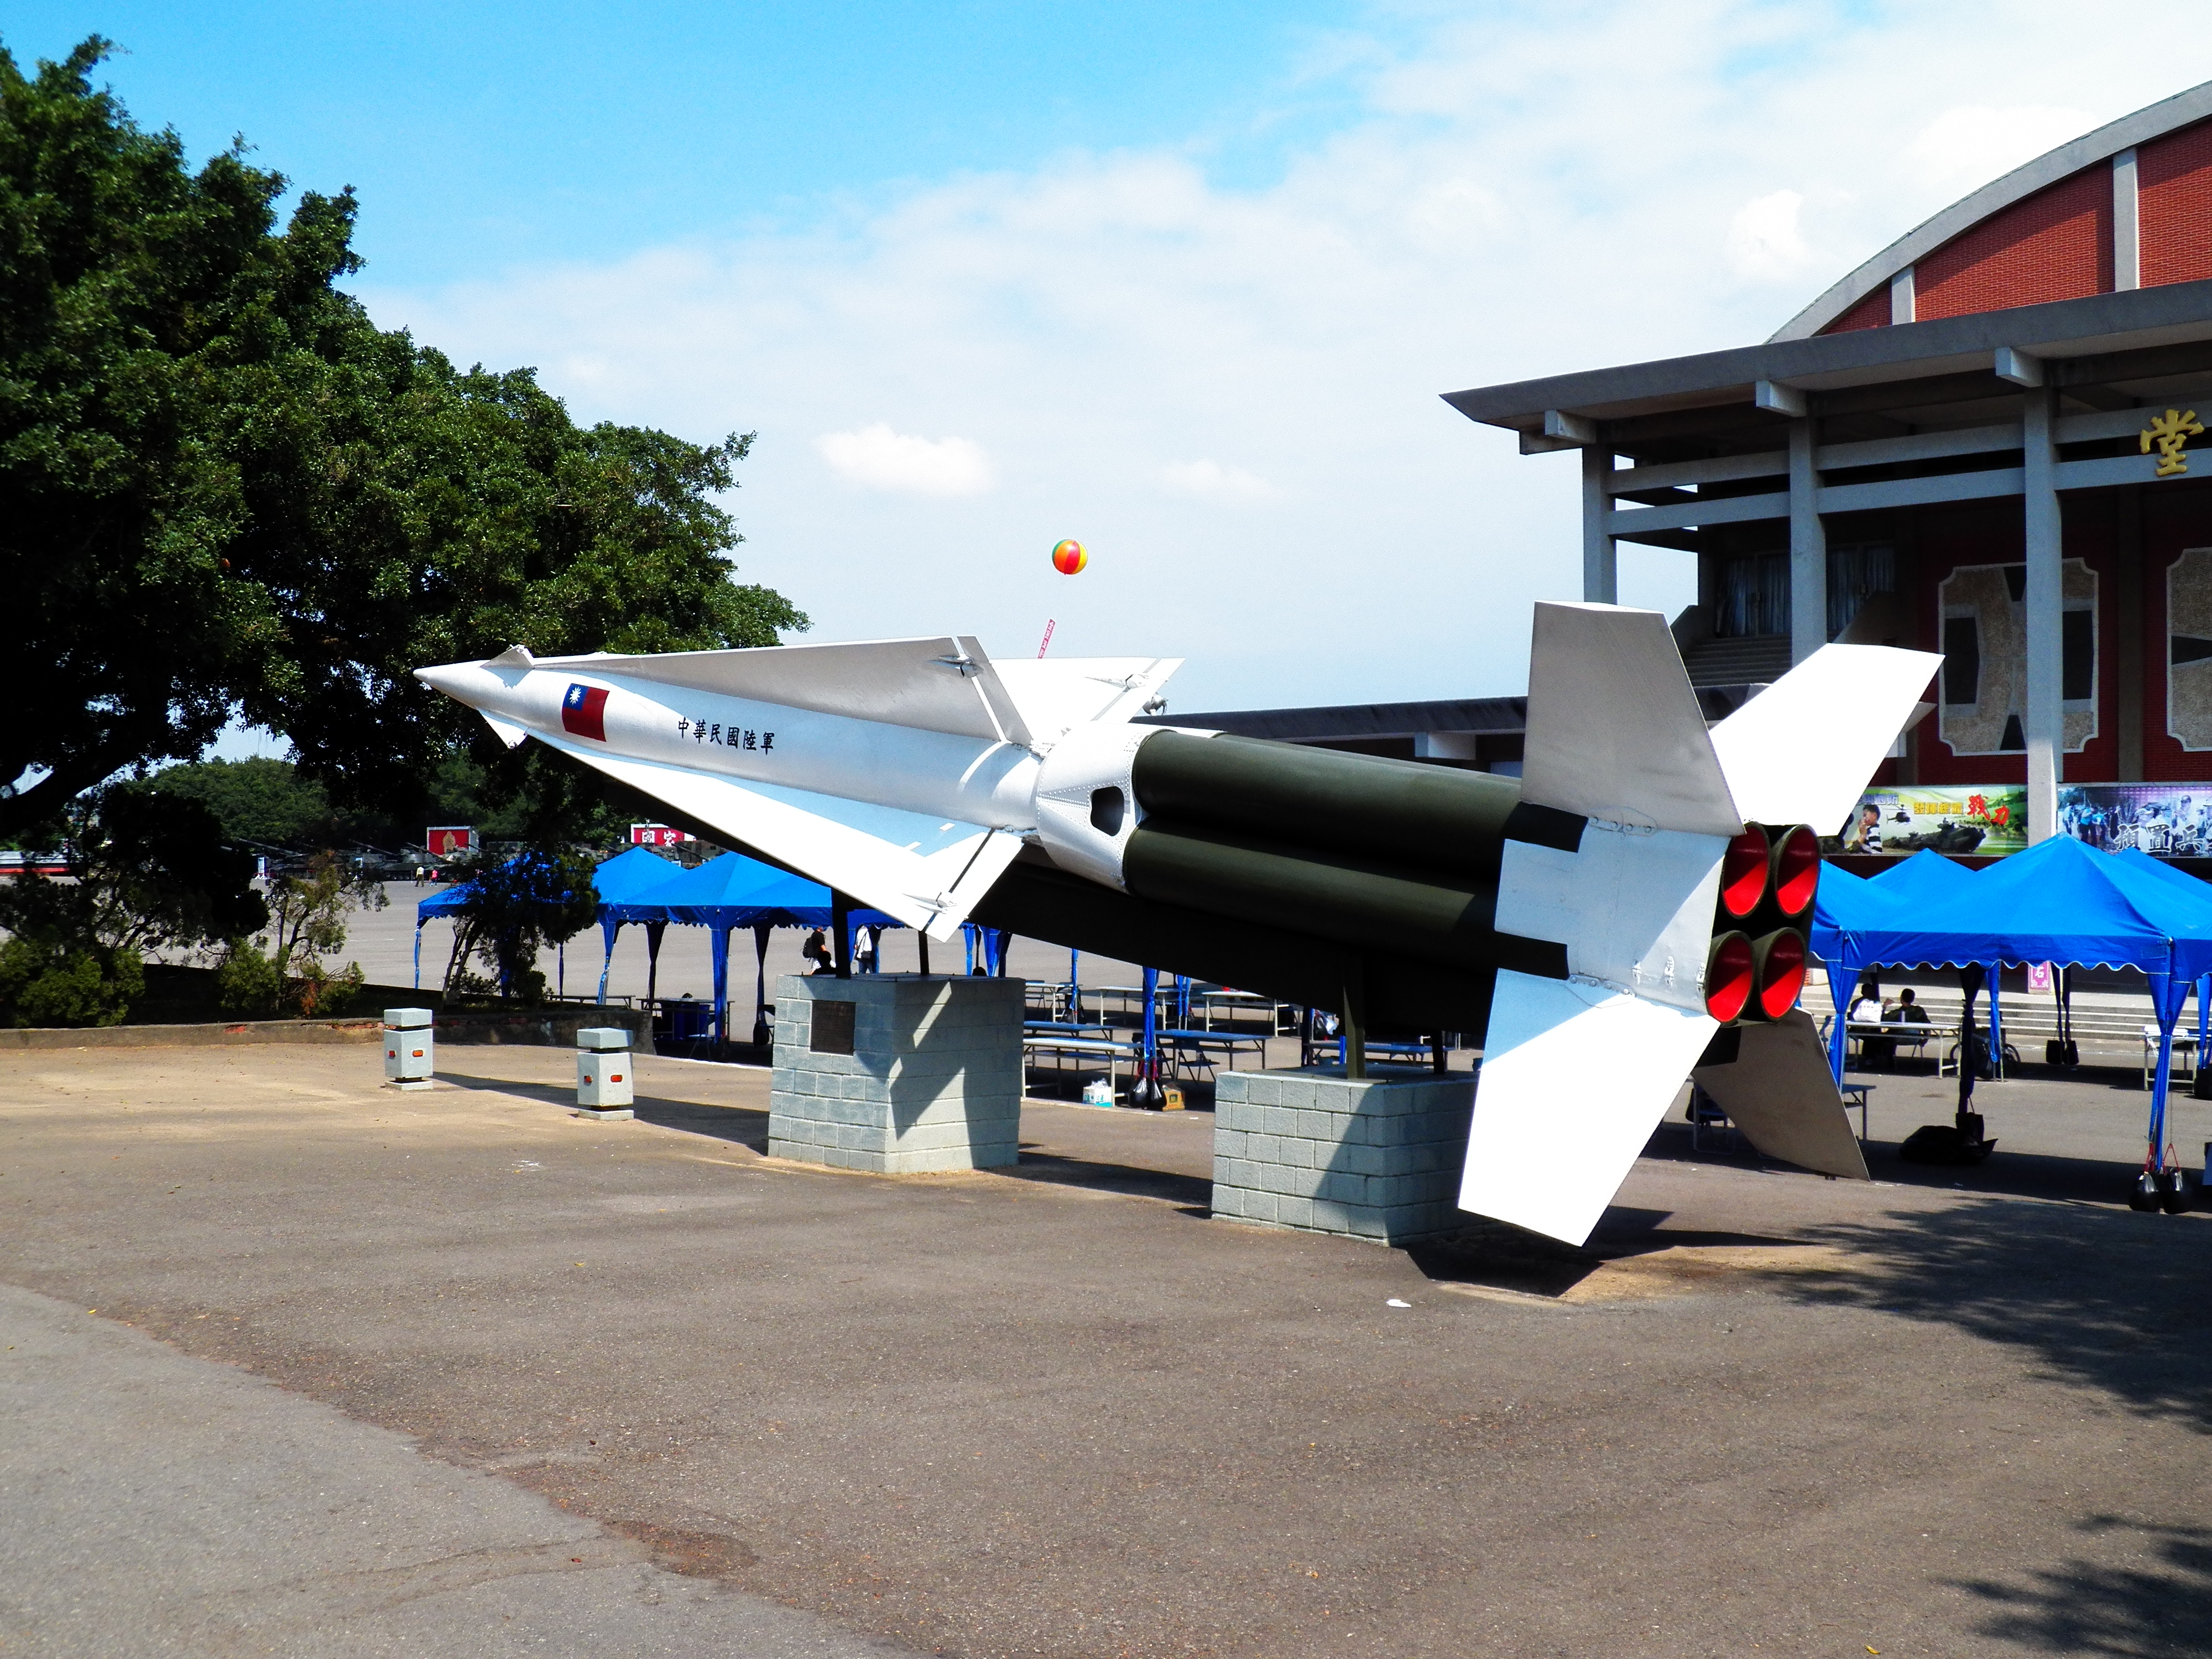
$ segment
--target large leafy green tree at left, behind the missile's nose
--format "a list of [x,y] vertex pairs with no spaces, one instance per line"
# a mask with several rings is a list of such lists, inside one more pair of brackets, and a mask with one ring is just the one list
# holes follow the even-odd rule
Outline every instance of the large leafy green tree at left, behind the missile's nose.
[[341,807],[409,812],[467,752],[535,836],[619,818],[411,670],[803,628],[732,577],[714,498],[752,436],[580,427],[529,369],[378,330],[338,290],[352,190],[279,228],[285,179],[243,144],[186,166],[93,84],[106,53],[24,75],[0,49],[0,560],[40,666],[0,732],[0,838],[232,712]]

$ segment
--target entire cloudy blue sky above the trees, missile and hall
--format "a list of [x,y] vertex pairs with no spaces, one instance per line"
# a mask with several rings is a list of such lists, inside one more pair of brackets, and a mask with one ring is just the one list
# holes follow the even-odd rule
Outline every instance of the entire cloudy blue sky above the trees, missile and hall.
[[[4,15],[20,60],[117,40],[195,155],[358,186],[383,325],[584,420],[759,431],[741,573],[812,637],[1053,619],[1188,657],[1177,712],[1520,690],[1575,465],[1438,394],[1763,338],[2212,77],[2212,13],[2075,0]],[[1694,597],[1681,553],[1621,571]]]

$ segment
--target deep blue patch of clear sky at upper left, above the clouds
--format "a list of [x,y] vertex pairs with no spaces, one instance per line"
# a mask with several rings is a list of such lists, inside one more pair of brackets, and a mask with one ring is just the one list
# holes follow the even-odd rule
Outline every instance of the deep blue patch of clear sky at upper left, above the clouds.
[[150,126],[243,133],[363,195],[376,279],[812,221],[1071,148],[1175,146],[1272,181],[1349,108],[1345,4],[13,4],[18,62],[88,33]]

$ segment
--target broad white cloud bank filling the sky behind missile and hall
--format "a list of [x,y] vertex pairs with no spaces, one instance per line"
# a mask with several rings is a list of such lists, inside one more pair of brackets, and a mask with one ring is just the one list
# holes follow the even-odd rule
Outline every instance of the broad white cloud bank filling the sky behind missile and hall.
[[[1055,650],[1188,657],[1179,710],[1513,692],[1528,604],[1579,597],[1575,465],[1438,394],[1765,338],[2022,146],[2177,91],[2212,13],[2161,27],[2143,53],[2070,0],[1480,9],[1338,51],[1316,73],[1354,115],[1261,186],[1197,146],[1064,155],[367,299],[460,361],[544,365],[584,418],[757,427],[743,580],[814,637],[1026,655],[1055,615]],[[2020,104],[1953,111],[1991,80]],[[1298,511],[1221,511],[1256,502],[1239,480]],[[1079,582],[1044,557],[1066,535]],[[1628,602],[1674,611],[1690,575],[1621,551]]]

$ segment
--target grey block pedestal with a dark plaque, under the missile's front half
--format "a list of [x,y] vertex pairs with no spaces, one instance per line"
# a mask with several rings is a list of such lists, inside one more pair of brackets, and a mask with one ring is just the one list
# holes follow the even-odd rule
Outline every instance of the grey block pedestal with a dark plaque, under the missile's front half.
[[768,1155],[876,1175],[1020,1157],[1020,980],[776,980]]

